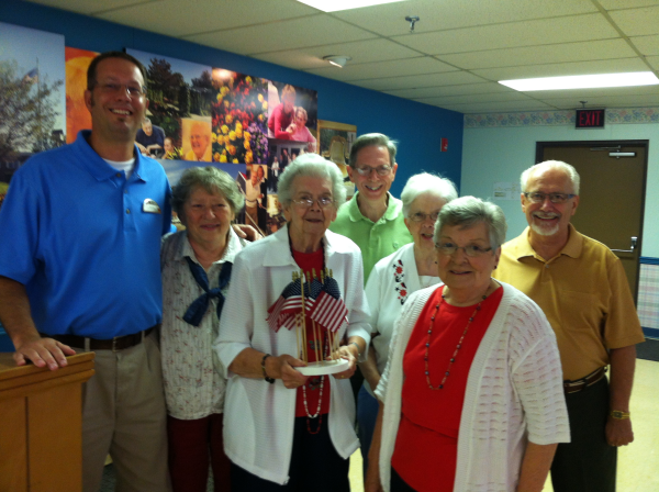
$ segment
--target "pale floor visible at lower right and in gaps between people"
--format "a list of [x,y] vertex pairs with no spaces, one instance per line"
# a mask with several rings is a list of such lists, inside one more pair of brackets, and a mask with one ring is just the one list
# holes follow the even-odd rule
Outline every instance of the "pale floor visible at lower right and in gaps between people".
[[[618,454],[619,492],[659,491],[659,362],[638,359],[632,393],[635,440]],[[364,492],[361,454],[350,458],[350,490]],[[543,492],[554,492],[550,480]]]

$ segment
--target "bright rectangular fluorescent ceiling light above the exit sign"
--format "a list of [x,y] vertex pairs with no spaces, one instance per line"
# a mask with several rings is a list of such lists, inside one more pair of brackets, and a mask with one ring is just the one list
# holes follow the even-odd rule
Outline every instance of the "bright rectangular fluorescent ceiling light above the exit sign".
[[534,90],[655,86],[659,85],[659,79],[651,71],[633,71],[628,74],[576,75],[569,77],[543,77],[538,79],[500,80],[499,83],[522,92],[528,92]]

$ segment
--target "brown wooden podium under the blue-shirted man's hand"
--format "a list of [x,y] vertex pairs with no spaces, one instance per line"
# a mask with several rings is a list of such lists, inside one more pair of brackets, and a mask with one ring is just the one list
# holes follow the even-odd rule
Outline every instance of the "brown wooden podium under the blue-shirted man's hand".
[[82,490],[82,383],[93,353],[56,371],[0,354],[0,491]]

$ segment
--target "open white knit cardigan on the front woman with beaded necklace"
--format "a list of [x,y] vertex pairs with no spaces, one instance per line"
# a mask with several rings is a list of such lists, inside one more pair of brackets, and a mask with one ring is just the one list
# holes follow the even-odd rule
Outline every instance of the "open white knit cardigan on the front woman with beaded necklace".
[[[501,304],[469,370],[460,420],[456,492],[512,492],[527,439],[569,443],[570,429],[556,336],[538,305],[503,286]],[[380,478],[389,491],[401,416],[403,356],[410,334],[437,287],[413,294],[396,321],[384,374],[376,390],[384,402]]]

